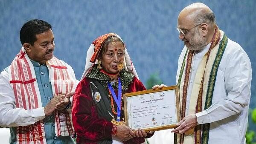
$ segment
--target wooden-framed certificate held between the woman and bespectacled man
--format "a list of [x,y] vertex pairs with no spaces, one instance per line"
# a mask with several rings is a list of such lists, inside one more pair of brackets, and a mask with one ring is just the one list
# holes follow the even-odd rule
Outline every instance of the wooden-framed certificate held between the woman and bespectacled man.
[[149,89],[124,94],[125,125],[145,132],[177,127],[180,121],[178,87]]

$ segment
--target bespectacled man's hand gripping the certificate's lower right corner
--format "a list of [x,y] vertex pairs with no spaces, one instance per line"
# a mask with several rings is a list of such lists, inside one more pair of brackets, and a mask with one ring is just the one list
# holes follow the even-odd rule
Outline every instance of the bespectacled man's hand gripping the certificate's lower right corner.
[[197,126],[197,124],[198,122],[195,114],[187,115],[185,118],[183,118],[180,122],[176,124],[178,127],[172,130],[171,132],[182,134],[194,128],[195,126]]

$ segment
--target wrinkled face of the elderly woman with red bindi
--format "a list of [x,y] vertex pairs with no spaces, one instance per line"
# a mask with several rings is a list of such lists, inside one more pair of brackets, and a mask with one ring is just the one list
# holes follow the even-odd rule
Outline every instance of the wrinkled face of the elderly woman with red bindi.
[[124,50],[125,48],[120,41],[116,41],[115,45],[109,43],[107,51],[102,55],[102,69],[111,74],[117,73],[117,64],[125,58]]

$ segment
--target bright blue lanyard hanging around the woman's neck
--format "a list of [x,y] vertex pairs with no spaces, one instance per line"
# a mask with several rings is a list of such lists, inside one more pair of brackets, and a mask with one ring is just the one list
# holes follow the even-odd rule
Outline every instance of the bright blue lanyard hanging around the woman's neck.
[[122,96],[122,84],[121,84],[121,80],[120,77],[118,78],[118,95],[116,97],[116,93],[114,92],[113,87],[111,86],[111,83],[108,82],[108,89],[110,89],[111,94],[116,102],[117,105],[117,117],[116,117],[116,121],[120,121],[120,117],[121,117],[121,96]]

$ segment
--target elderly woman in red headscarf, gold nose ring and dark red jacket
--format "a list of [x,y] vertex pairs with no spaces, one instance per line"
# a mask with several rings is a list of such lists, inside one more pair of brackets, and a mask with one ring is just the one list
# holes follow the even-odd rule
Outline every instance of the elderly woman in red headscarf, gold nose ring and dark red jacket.
[[152,132],[124,125],[124,93],[145,90],[122,39],[98,37],[87,52],[85,71],[73,98],[78,144],[143,144]]

